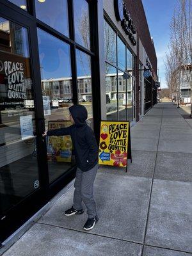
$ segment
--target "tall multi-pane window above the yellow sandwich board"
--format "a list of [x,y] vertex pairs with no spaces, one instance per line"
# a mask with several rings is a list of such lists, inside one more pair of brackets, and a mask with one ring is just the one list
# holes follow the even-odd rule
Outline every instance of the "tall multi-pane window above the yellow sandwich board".
[[104,45],[107,120],[132,121],[133,55],[106,20],[104,20]]

